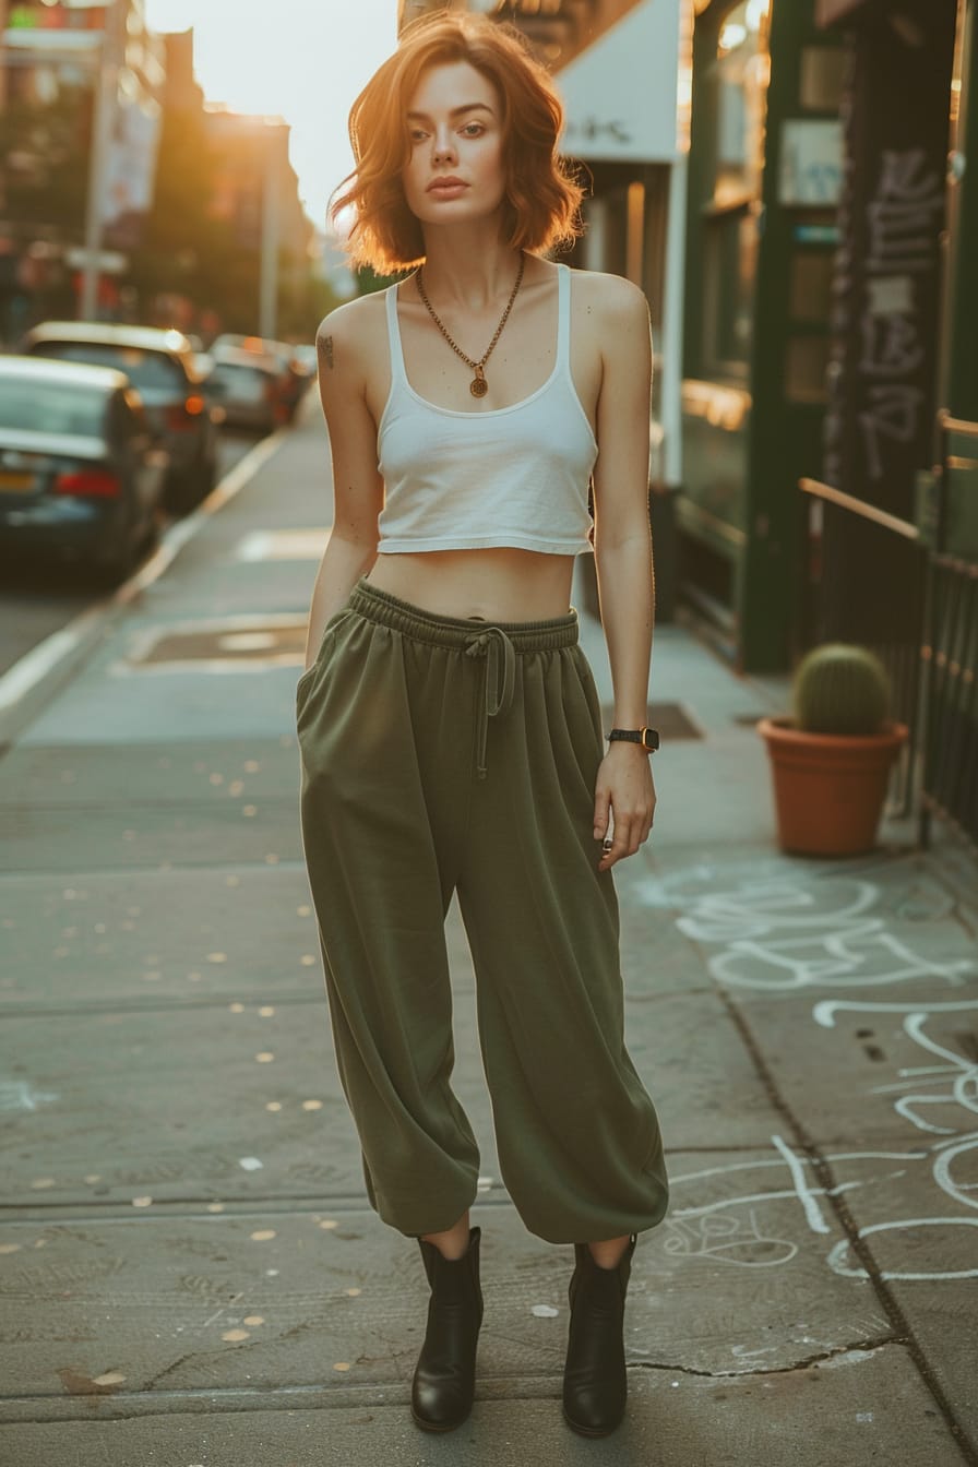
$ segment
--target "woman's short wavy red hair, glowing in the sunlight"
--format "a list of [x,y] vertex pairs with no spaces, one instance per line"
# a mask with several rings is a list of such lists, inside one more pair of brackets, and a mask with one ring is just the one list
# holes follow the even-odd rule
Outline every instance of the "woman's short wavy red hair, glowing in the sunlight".
[[441,13],[408,26],[350,109],[356,170],[333,197],[330,217],[336,223],[355,210],[348,242],[353,264],[393,274],[424,260],[421,224],[402,183],[411,148],[406,113],[421,75],[452,62],[468,62],[500,97],[507,244],[545,254],[581,233],[584,189],[557,153],[563,107],[550,73],[515,26]]

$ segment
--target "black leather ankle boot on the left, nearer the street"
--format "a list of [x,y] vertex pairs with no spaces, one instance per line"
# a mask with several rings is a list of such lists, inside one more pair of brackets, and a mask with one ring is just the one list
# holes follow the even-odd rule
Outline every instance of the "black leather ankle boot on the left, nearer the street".
[[469,1229],[469,1251],[446,1259],[418,1238],[431,1284],[428,1328],[411,1385],[411,1414],[425,1432],[450,1432],[472,1410],[475,1347],[482,1323],[479,1228]]

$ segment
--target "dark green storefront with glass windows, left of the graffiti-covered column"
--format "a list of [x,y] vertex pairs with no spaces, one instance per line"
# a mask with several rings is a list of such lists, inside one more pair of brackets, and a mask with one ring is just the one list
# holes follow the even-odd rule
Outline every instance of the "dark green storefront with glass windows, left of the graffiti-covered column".
[[812,0],[699,4],[677,543],[685,600],[752,672],[798,650],[798,481],[821,467],[843,75]]

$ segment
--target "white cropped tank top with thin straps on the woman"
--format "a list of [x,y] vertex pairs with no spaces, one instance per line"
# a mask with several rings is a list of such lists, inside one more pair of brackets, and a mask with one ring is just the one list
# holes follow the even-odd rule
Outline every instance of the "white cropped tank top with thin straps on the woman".
[[386,486],[381,553],[591,549],[588,486],[598,445],[570,377],[570,270],[557,271],[550,377],[512,408],[481,412],[438,408],[418,396],[405,370],[397,286],[386,292],[390,396],[377,434]]

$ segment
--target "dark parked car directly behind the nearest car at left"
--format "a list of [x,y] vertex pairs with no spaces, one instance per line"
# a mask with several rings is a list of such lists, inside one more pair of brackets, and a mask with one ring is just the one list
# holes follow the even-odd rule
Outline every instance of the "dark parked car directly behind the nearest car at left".
[[150,326],[44,321],[28,332],[22,349],[31,356],[123,371],[170,458],[166,508],[186,513],[211,491],[220,415],[204,395],[204,377],[186,336]]

